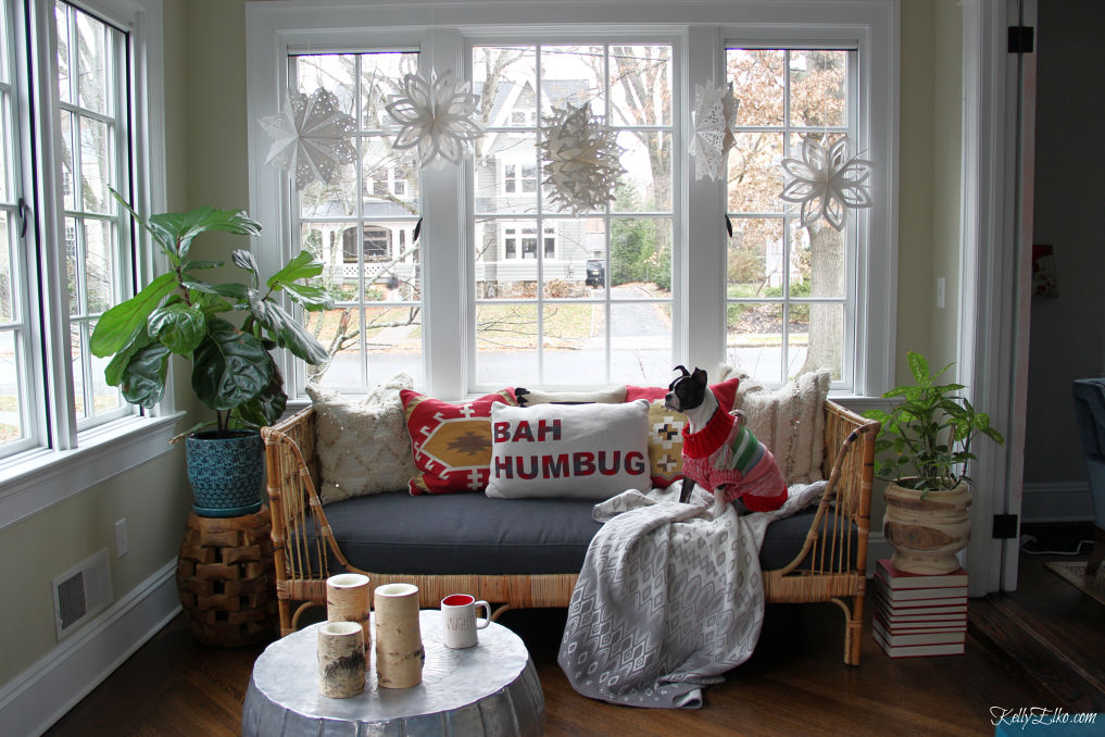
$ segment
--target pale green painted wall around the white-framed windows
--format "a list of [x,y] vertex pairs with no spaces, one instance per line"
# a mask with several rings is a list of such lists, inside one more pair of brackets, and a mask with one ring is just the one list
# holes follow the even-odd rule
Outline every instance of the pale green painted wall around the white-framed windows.
[[[249,172],[245,115],[245,11],[242,0],[165,0],[166,119],[170,209],[245,208]],[[954,355],[959,145],[959,11],[955,0],[902,3],[901,223],[898,379],[906,349]],[[242,241],[198,241],[199,257],[225,257]],[[935,276],[945,275],[945,310],[934,307]],[[950,351],[950,354],[949,354]],[[950,359],[948,359],[950,360]],[[190,392],[188,428],[202,417]],[[113,523],[128,519],[130,551],[112,556],[116,598],[176,557],[190,504],[180,449],[0,530],[10,598],[0,608],[0,683],[55,645],[50,580],[101,548],[114,550]],[[880,504],[876,502],[876,504]],[[875,520],[881,509],[875,509]],[[878,523],[874,525],[878,528]],[[6,577],[7,578],[7,577]],[[18,602],[18,603],[14,603]],[[18,633],[18,635],[15,634]]]

